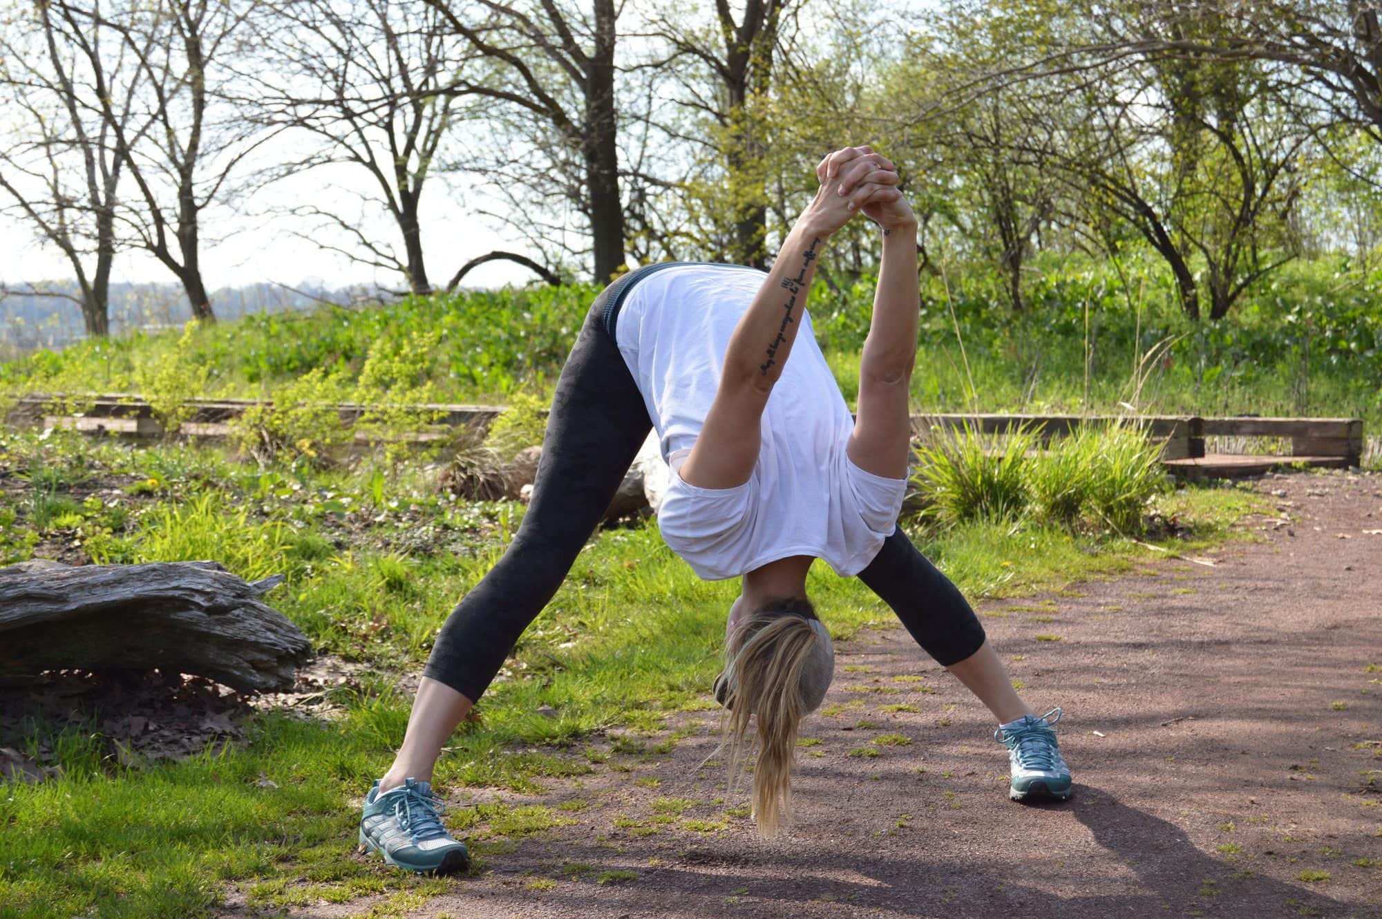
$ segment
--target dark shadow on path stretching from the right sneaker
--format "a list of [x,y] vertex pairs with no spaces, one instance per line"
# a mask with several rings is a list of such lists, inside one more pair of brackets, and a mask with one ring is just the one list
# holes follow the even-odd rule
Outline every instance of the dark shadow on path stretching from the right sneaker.
[[1103,789],[1079,786],[1070,810],[1096,843],[1137,875],[1144,890],[1129,900],[1147,904],[1150,898],[1158,913],[1180,907],[1231,916],[1382,915],[1368,911],[1371,904],[1360,913],[1305,884],[1266,878],[1253,862],[1212,858],[1175,824],[1129,807]]

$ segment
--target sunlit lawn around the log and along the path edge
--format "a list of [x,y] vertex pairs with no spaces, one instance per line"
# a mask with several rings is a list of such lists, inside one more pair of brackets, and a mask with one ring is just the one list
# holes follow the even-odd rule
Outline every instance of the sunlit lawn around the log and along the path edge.
[[[247,884],[265,908],[361,893],[426,900],[433,890],[426,883],[343,853],[354,839],[358,799],[408,723],[409,699],[394,688],[397,676],[426,659],[456,597],[511,536],[521,506],[438,498],[415,466],[398,467],[380,484],[368,463],[261,471],[213,449],[131,451],[0,428],[0,482],[12,489],[14,473],[35,468],[68,471],[6,492],[21,496],[0,502],[6,561],[29,557],[40,528],[57,525],[28,498],[37,486],[48,500],[70,502],[65,513],[75,520],[61,535],[102,560],[216,557],[246,578],[285,574],[269,601],[315,645],[366,662],[370,672],[358,687],[332,691],[333,720],[256,714],[243,741],[184,763],[112,766],[97,730],[35,737],[57,750],[64,775],[4,786],[0,916],[206,916],[231,880]],[[91,480],[115,484],[119,495],[91,502],[69,493]],[[1180,550],[1223,539],[1259,500],[1245,488],[1158,498],[1162,513],[1190,528],[1189,540],[1173,543]],[[1147,557],[1117,536],[1032,521],[916,529],[914,536],[970,596],[1060,586]],[[839,636],[893,623],[855,579],[835,578],[824,565],[813,568],[808,591]],[[706,705],[732,598],[732,583],[698,580],[663,544],[655,522],[603,532],[481,701],[482,721],[452,738],[438,784],[538,792],[603,761],[663,756],[670,745],[638,738],[669,716]],[[557,716],[536,714],[540,706]],[[612,753],[589,746],[603,731],[615,735]],[[850,755],[878,752],[869,745]],[[261,786],[261,775],[278,788]],[[695,804],[661,797],[652,810],[674,818]],[[498,857],[500,843],[560,826],[571,810],[482,807],[448,819],[482,843],[477,854],[484,858],[485,851]],[[683,825],[714,832],[709,825],[719,821],[703,822],[703,829]]]

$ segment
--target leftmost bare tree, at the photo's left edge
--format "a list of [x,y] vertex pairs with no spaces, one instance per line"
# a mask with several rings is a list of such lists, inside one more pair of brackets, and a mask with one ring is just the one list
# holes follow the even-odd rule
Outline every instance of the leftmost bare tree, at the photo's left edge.
[[0,189],[12,199],[12,210],[72,265],[77,294],[32,285],[15,293],[70,300],[82,310],[87,334],[104,336],[111,330],[116,192],[123,163],[93,100],[98,87],[117,91],[112,116],[126,133],[141,133],[134,120],[141,73],[133,55],[122,53],[119,36],[102,33],[94,21],[82,23],[80,36],[97,50],[94,64],[73,54],[79,39],[70,29],[76,23],[53,12],[43,3],[15,7],[3,22],[0,88],[6,105],[21,115],[22,127],[0,145]]

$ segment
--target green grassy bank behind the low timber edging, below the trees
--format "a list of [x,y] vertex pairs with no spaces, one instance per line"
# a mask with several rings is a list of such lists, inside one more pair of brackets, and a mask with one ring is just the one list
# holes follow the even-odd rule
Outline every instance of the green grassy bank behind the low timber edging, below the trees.
[[[1350,415],[1374,435],[1382,428],[1382,285],[1346,260],[1298,260],[1251,289],[1227,321],[1200,323],[1182,315],[1155,258],[1126,260],[1126,287],[1107,260],[1041,256],[1031,267],[1020,316],[980,267],[952,268],[949,296],[940,278],[923,276],[919,406],[1121,413],[1130,401],[1146,413]],[[176,399],[171,384],[200,380],[205,368],[203,395],[272,395],[315,370],[323,394],[340,397],[426,388],[438,401],[503,401],[551,388],[594,293],[582,285],[462,292],[252,315],[198,328],[185,345],[177,330],[93,340],[0,363],[0,392],[162,386]],[[817,339],[851,402],[872,293],[867,275],[811,292]],[[1165,358],[1143,366],[1139,386],[1143,355],[1162,340]]]

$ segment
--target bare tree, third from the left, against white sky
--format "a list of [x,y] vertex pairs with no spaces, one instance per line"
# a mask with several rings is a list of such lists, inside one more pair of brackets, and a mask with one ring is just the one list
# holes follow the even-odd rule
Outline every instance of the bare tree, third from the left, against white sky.
[[419,0],[287,0],[258,23],[256,117],[312,145],[271,176],[336,164],[363,170],[373,185],[369,200],[388,214],[404,257],[343,214],[337,196],[293,213],[355,240],[354,249],[323,247],[398,271],[415,293],[430,292],[419,213],[456,120],[467,59],[445,18]]

